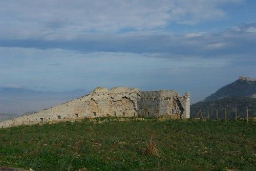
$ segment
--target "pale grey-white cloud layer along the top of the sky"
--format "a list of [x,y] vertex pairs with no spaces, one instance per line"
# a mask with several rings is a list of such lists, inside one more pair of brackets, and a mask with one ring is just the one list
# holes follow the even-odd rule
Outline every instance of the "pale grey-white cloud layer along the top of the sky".
[[148,31],[170,23],[195,24],[226,16],[238,0],[1,1],[2,38],[70,39],[84,33]]

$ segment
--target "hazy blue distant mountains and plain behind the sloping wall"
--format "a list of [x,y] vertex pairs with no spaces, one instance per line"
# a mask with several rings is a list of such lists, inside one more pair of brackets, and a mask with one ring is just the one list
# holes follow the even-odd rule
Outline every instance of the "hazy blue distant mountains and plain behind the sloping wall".
[[88,94],[86,90],[67,92],[33,91],[28,89],[0,89],[0,120],[9,119],[31,111],[39,111],[50,106]]

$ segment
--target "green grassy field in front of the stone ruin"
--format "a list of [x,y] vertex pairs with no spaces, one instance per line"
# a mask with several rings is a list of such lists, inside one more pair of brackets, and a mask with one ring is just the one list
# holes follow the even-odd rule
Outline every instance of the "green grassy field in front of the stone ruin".
[[[34,170],[256,169],[253,121],[113,119],[0,129],[0,166]],[[157,154],[145,153],[151,139]]]

